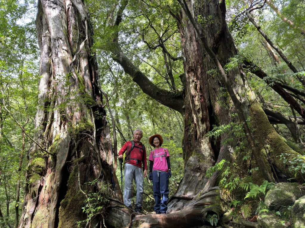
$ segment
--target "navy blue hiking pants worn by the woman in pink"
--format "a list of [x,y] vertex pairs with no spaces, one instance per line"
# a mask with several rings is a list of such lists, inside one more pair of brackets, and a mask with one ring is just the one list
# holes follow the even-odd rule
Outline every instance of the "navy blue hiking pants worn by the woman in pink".
[[152,171],[152,191],[155,198],[154,211],[157,214],[166,213],[168,200],[168,173],[165,171]]

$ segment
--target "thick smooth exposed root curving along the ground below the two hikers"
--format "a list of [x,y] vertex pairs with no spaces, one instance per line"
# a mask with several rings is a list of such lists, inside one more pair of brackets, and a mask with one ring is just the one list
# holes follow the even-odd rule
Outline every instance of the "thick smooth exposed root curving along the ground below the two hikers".
[[[107,223],[118,227],[166,228],[166,227],[211,227],[207,220],[208,215],[216,215],[217,220],[221,214],[219,188],[210,188],[194,199],[184,209],[170,214],[136,215],[126,207],[110,207]],[[113,201],[113,204],[118,202]],[[128,218],[128,217],[129,218]],[[128,218],[128,220],[127,220]]]

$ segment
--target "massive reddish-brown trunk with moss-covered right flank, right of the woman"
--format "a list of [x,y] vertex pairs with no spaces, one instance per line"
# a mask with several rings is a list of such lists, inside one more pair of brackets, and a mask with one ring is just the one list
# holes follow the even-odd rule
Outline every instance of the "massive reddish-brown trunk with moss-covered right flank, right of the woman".
[[[205,39],[210,48],[217,55],[222,67],[230,61],[231,57],[237,54],[233,38],[225,22],[224,1],[188,1],[188,8],[194,18],[207,19],[200,25]],[[211,178],[206,178],[206,169],[215,162],[222,159],[231,160],[237,141],[224,143],[228,137],[234,137],[229,133],[224,133],[216,139],[216,143],[206,136],[212,130],[213,125],[225,125],[232,119],[230,112],[235,112],[231,99],[228,96],[220,74],[213,60],[207,54],[200,42],[200,37],[196,33],[192,23],[188,20],[184,12],[181,11],[178,27],[181,34],[181,47],[184,56],[185,69],[185,131],[184,131],[184,160],[185,173],[181,181],[177,195],[197,195],[202,191],[218,185],[220,172],[215,172]],[[257,136],[257,146],[262,151],[265,164],[271,173],[271,166],[277,168],[286,175],[287,170],[276,156],[281,153],[294,153],[285,144],[281,137],[275,132],[267,120],[260,105],[253,102],[254,93],[249,89],[244,78],[241,66],[237,66],[227,72],[231,81],[231,86],[239,99],[242,111],[246,118],[251,119],[254,135]],[[250,105],[252,104],[252,105]],[[267,146],[266,146],[267,145]],[[270,149],[266,149],[266,148]],[[267,157],[266,157],[267,154]],[[250,154],[250,156],[252,156]],[[236,154],[233,162],[239,165],[241,170],[257,167],[256,161],[242,162],[242,155]],[[247,167],[248,165],[248,167]],[[254,173],[253,179],[262,180],[260,173]],[[169,204],[169,211],[174,212],[183,209],[188,205],[188,201],[175,199]]]

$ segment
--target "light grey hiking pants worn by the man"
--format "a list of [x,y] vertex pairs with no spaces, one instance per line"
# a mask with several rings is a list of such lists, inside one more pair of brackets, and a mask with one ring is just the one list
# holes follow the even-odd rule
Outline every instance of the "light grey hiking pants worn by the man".
[[131,206],[132,197],[132,182],[135,179],[135,185],[137,188],[135,206],[142,207],[143,200],[143,173],[142,169],[138,166],[125,164],[124,168],[125,186],[124,186],[124,204],[129,207]]

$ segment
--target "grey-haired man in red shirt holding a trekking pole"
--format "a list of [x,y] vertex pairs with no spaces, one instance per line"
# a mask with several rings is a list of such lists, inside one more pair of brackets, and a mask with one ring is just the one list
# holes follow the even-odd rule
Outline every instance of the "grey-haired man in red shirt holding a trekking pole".
[[[143,136],[141,129],[134,131],[134,147],[132,148],[132,142],[128,141],[119,151],[119,159],[123,158],[123,154],[126,152],[125,168],[124,168],[124,204],[131,208],[132,197],[132,181],[135,179],[137,195],[135,202],[135,212],[141,212],[143,202],[143,177],[147,176],[147,159],[146,150],[144,145],[140,142]],[[131,151],[130,151],[131,150]],[[144,175],[142,174],[142,164]]]

